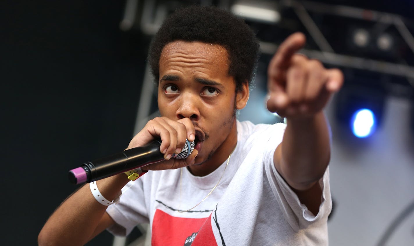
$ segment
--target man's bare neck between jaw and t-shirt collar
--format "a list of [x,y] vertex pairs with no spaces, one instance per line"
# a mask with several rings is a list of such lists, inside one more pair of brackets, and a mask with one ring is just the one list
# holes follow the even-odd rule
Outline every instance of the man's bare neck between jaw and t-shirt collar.
[[214,151],[214,154],[204,163],[199,165],[188,166],[190,173],[195,176],[205,176],[216,170],[224,161],[229,158],[231,152],[237,144],[237,128],[236,118],[232,123],[230,133],[226,137],[226,140],[220,144],[220,146]]

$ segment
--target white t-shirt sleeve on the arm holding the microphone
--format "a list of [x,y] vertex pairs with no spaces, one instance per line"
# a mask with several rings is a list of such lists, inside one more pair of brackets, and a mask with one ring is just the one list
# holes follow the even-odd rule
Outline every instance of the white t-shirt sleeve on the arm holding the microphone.
[[136,225],[149,223],[142,186],[142,180],[130,181],[122,188],[119,203],[108,206],[106,212],[116,222],[107,229],[109,232],[126,236]]

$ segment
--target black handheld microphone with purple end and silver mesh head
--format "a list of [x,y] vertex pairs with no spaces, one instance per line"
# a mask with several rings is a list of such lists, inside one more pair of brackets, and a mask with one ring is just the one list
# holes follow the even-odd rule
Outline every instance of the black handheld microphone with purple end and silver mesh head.
[[[93,182],[106,177],[125,173],[126,171],[147,166],[164,160],[164,154],[159,147],[161,142],[154,140],[142,147],[135,147],[124,150],[95,161],[88,161],[79,168],[69,171],[68,177],[72,184]],[[185,159],[194,149],[194,142],[186,140],[186,143],[179,154],[173,154],[173,158]]]

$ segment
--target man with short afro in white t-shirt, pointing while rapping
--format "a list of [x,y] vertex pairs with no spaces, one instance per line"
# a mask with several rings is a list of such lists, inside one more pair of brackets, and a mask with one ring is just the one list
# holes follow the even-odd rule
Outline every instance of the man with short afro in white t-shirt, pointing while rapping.
[[[238,122],[236,111],[255,71],[254,33],[211,7],[168,17],[149,52],[161,117],[128,146],[161,139],[166,160],[136,170],[134,182],[121,173],[79,189],[51,215],[39,245],[83,245],[106,228],[125,235],[143,222],[153,246],[327,245],[330,133],[322,110],[343,78],[295,54],[304,43],[301,33],[289,36],[268,68],[267,108],[287,125],[253,125]],[[192,154],[171,158],[185,139],[195,141]],[[122,188],[120,202],[105,206]]]

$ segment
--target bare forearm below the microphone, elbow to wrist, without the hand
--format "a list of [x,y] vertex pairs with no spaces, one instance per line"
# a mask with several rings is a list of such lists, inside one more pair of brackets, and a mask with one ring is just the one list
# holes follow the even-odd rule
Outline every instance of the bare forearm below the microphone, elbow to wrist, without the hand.
[[[121,173],[97,181],[101,194],[112,201],[128,183]],[[39,246],[84,245],[115,222],[105,213],[106,206],[95,200],[89,184],[68,197],[51,215],[39,233]]]

